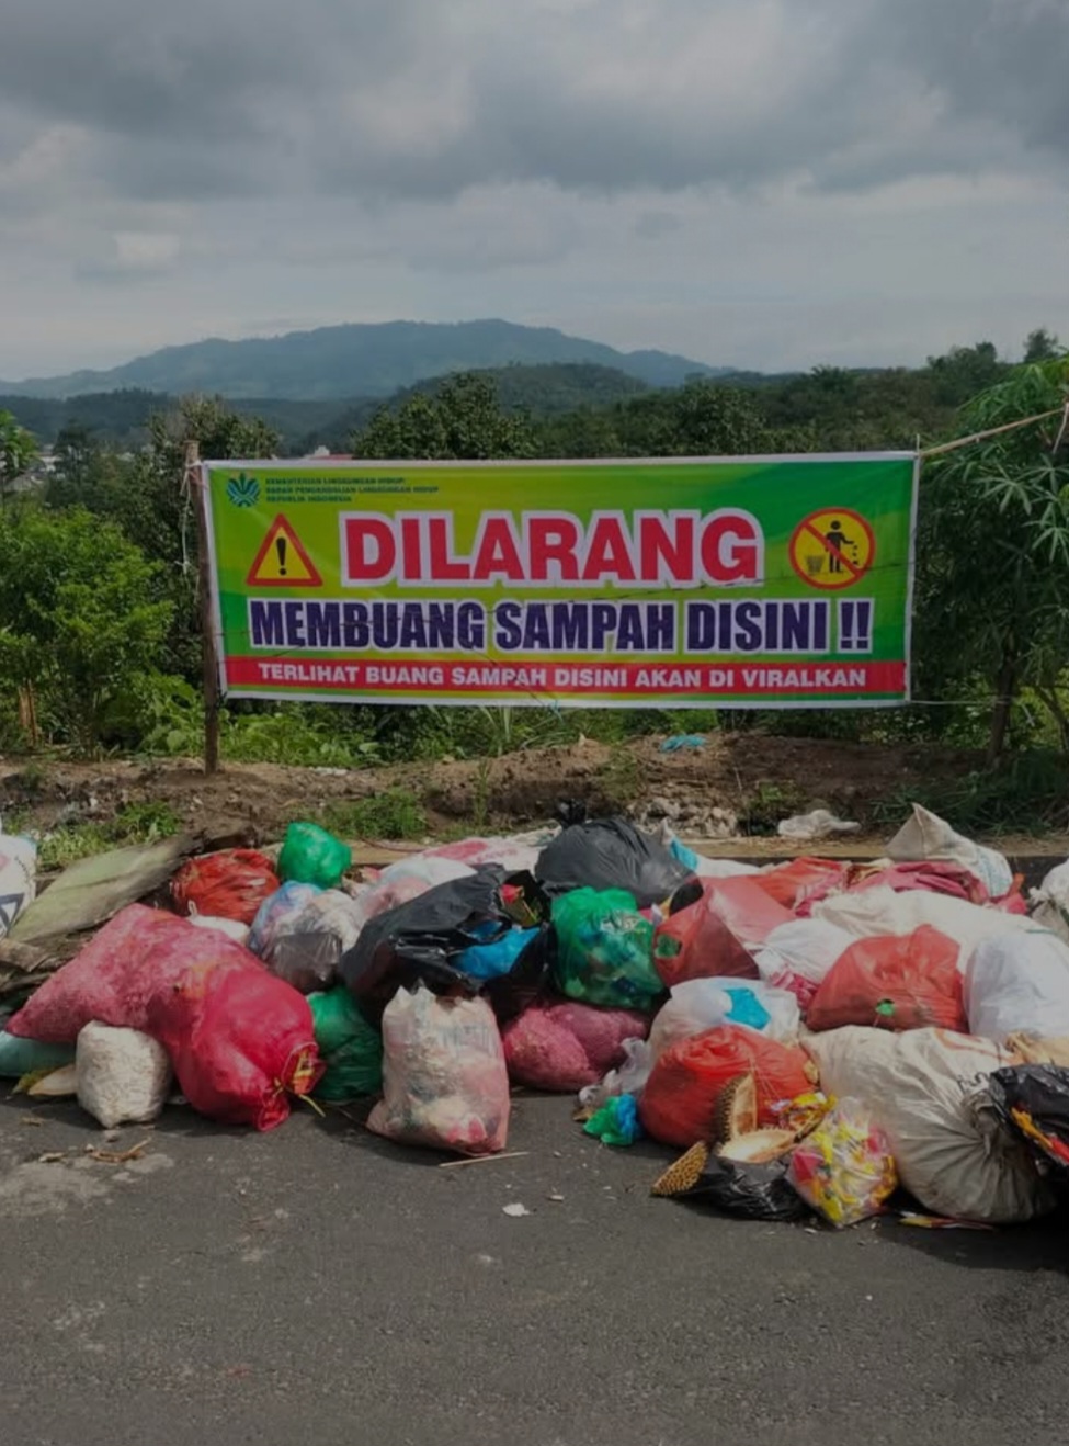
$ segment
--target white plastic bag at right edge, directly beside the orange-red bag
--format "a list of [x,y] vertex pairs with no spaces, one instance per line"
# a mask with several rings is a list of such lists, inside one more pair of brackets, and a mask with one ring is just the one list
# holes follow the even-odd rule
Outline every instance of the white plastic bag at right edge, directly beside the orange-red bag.
[[1069,946],[1055,934],[982,940],[965,970],[965,1011],[969,1030],[997,1044],[1069,1034]]

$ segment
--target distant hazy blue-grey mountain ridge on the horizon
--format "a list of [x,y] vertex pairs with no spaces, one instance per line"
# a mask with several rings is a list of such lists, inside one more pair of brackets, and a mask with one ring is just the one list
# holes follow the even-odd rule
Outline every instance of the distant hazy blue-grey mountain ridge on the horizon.
[[105,372],[0,382],[7,396],[66,398],[130,388],[181,395],[220,393],[231,401],[384,398],[449,372],[511,364],[594,363],[647,386],[680,386],[688,376],[727,376],[667,351],[617,351],[552,327],[510,321],[387,321],[318,327],[280,337],[212,338],[163,347]]

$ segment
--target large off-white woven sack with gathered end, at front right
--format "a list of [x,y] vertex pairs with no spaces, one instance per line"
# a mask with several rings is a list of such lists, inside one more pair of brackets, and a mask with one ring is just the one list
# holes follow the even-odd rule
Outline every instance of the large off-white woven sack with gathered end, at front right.
[[987,1076],[1013,1056],[945,1030],[851,1025],[813,1034],[821,1089],[854,1098],[884,1131],[903,1186],[933,1215],[1010,1225],[1053,1207],[1024,1144],[1000,1122]]

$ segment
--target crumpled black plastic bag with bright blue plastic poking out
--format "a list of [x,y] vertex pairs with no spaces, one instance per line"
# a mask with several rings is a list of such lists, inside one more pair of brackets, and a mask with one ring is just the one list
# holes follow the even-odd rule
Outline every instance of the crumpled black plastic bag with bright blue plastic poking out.
[[[465,949],[491,944],[517,925],[539,933],[507,975],[480,980],[456,966]],[[555,947],[549,898],[532,875],[487,866],[370,920],[339,972],[376,1022],[399,989],[422,983],[441,995],[484,993],[504,1024],[546,988]]]

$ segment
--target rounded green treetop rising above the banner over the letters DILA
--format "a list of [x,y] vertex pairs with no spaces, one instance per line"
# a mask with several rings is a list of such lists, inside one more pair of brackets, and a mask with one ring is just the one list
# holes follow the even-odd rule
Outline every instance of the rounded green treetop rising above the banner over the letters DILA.
[[446,377],[432,396],[380,408],[352,435],[357,457],[481,461],[533,457],[534,431],[524,414],[506,412],[493,377],[474,372]]

